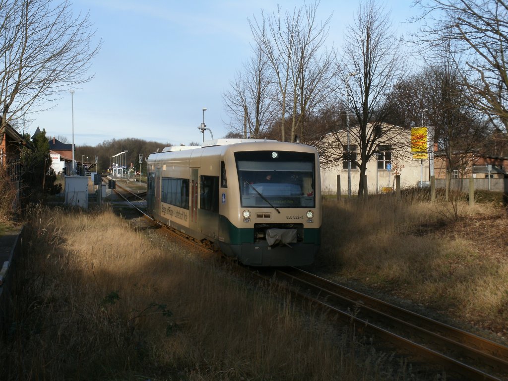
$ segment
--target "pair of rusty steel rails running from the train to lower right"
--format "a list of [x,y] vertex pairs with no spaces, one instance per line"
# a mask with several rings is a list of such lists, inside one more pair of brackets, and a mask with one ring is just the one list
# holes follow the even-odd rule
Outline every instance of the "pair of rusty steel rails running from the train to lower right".
[[[358,293],[352,289],[346,288],[340,284],[308,273],[301,269],[291,268],[287,271],[279,269],[276,271],[276,273],[282,279],[286,279],[288,284],[293,286],[298,284],[303,285],[303,287],[306,289],[306,292],[299,291],[294,288],[291,289],[292,292],[295,292],[300,297],[303,297],[314,303],[318,303],[321,306],[340,314],[342,317],[353,319],[357,324],[360,325],[360,327],[362,327],[362,329],[366,329],[378,337],[383,337],[383,339],[390,341],[399,347],[410,350],[416,355],[429,359],[433,363],[442,365],[448,370],[459,373],[462,376],[468,377],[469,379],[498,381],[502,380],[503,378],[499,378],[496,375],[488,373],[488,371],[491,371],[492,369],[489,369],[488,371],[479,369],[478,367],[471,366],[461,360],[456,359],[457,357],[475,359],[480,361],[483,365],[488,364],[496,372],[503,372],[505,369],[508,369],[508,362],[502,358],[502,353],[505,353],[508,348],[501,344],[481,338],[469,332],[459,330],[446,324],[433,321],[426,316],[419,315],[398,306],[391,305],[390,303],[386,303],[368,295]],[[321,285],[316,283],[320,283]],[[308,294],[309,289],[314,290],[316,297]],[[344,292],[343,295],[341,295],[342,291]],[[359,317],[355,313],[344,311],[332,305],[332,300],[335,300],[342,306],[345,304],[348,308],[358,306],[358,314],[362,314],[363,317]],[[382,308],[376,309],[376,305],[382,306]],[[418,320],[415,321],[415,319]],[[373,320],[375,320],[376,323],[373,323]],[[385,322],[385,324],[386,322],[389,322],[391,328],[388,329],[386,327],[384,328],[380,326],[380,322]],[[420,322],[422,322],[422,325],[425,323],[426,327],[424,328],[420,326]],[[399,329],[401,327],[405,327],[406,332],[404,332],[404,335],[411,336],[413,338],[403,337],[400,334],[393,332],[395,330],[394,327]],[[448,327],[450,327],[455,334],[460,332],[464,335],[464,337],[467,337],[468,341],[466,342],[477,340],[477,346],[481,346],[480,342],[483,342],[486,344],[485,346],[491,349],[497,348],[496,351],[497,353],[501,353],[501,356],[496,357],[496,354],[489,352],[486,353],[477,347],[468,346],[464,344],[464,342],[457,342],[450,337],[444,337],[443,332],[446,331]],[[435,333],[434,328],[441,333]],[[407,332],[409,332],[409,334]],[[420,341],[427,342],[430,338],[432,340],[431,343],[433,342],[434,345],[437,343],[437,347],[442,348],[444,346],[447,349],[452,348],[455,353],[458,353],[458,356],[454,355],[454,357],[451,357],[439,350],[436,350],[435,348],[433,349],[432,347],[429,347],[428,343],[423,344],[422,342],[416,342],[414,336],[417,336]]]

